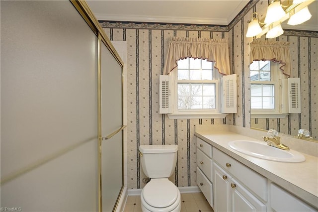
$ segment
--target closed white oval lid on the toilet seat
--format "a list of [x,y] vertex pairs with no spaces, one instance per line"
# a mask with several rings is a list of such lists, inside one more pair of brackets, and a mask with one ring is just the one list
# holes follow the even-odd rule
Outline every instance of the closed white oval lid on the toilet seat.
[[155,208],[171,206],[178,197],[178,188],[168,179],[152,179],[143,189],[146,203]]

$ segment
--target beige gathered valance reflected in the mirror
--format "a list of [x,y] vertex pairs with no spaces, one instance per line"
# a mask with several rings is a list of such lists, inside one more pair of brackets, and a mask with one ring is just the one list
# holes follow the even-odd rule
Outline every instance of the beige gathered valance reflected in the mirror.
[[250,43],[250,63],[254,60],[278,62],[285,75],[290,76],[289,42],[275,40],[255,40]]

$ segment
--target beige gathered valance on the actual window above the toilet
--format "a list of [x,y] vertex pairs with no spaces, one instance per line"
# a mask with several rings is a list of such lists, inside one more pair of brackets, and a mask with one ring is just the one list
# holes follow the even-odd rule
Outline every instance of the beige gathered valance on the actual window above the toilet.
[[221,74],[230,75],[229,44],[225,39],[171,37],[163,74],[168,75],[177,67],[177,61],[187,57],[215,62]]

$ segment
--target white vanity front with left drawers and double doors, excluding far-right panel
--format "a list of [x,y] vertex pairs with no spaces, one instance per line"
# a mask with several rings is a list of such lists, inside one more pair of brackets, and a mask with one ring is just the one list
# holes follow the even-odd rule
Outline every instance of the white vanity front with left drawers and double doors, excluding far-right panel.
[[197,164],[197,184],[215,212],[266,212],[259,200],[267,200],[266,178],[198,137]]

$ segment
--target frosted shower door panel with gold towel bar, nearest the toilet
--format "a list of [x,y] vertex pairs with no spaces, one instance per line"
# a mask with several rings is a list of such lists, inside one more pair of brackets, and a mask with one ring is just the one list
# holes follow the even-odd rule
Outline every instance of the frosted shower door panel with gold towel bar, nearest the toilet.
[[101,203],[116,208],[123,188],[122,66],[101,42]]

